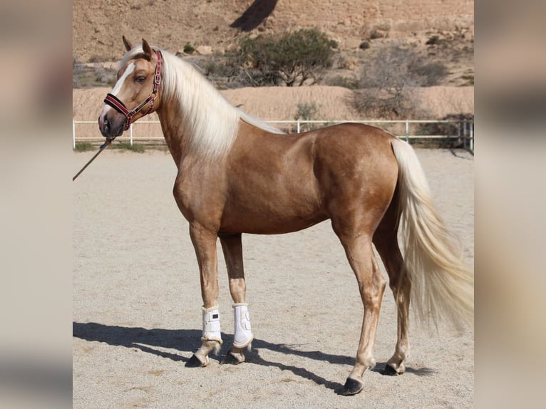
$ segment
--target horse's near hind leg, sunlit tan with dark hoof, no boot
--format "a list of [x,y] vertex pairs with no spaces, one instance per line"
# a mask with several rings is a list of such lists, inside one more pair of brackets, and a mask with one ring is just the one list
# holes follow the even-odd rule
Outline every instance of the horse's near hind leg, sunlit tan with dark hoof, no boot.
[[385,290],[386,281],[383,279],[374,252],[371,247],[371,239],[361,235],[356,238],[344,239],[347,259],[354,271],[356,281],[364,304],[364,319],[360,335],[359,350],[356,353],[356,363],[346,380],[342,394],[354,395],[364,388],[364,371],[376,365],[374,359],[374,344],[376,340],[379,311],[381,300]]

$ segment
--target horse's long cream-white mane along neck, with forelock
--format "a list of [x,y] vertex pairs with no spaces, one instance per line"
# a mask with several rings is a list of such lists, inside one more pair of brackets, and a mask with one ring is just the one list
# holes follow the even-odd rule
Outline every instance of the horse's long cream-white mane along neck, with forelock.
[[[123,56],[120,67],[142,53],[142,46],[133,48]],[[180,105],[181,131],[194,152],[210,157],[225,154],[237,138],[239,119],[270,133],[283,133],[231,105],[190,63],[168,51],[161,53],[164,60],[161,98],[175,100]]]

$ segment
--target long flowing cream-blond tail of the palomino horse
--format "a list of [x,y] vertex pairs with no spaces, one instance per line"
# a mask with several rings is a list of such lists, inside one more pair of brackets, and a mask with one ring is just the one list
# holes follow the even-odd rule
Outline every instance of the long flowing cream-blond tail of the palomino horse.
[[398,161],[398,209],[404,267],[411,281],[411,303],[421,321],[448,319],[455,328],[473,326],[473,272],[462,262],[431,201],[425,174],[413,148],[392,143]]

